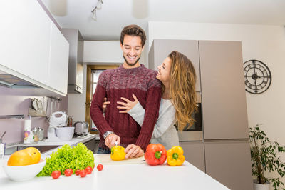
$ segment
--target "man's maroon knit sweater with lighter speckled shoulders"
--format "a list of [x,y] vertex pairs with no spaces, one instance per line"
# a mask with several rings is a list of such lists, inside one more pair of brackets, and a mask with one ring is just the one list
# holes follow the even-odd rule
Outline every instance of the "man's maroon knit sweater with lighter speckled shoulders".
[[[135,144],[146,149],[160,106],[161,84],[156,75],[156,71],[147,69],[143,65],[133,69],[125,69],[121,65],[118,69],[105,70],[100,74],[90,107],[90,116],[100,131],[99,147],[109,149],[105,146],[103,134],[106,131],[114,131],[120,136],[121,146]],[[132,94],[137,96],[145,109],[142,127],[129,114],[120,114],[120,110],[117,109],[117,106],[120,106],[117,101],[123,101],[120,97],[134,101]],[[110,101],[105,111],[105,118],[102,114],[104,97]]]

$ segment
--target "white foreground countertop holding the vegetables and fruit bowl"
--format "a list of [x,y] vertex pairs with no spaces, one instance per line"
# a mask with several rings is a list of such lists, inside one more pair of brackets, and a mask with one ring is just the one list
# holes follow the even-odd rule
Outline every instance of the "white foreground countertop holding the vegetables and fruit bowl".
[[[166,163],[166,162],[165,162]],[[100,163],[95,163],[95,166]],[[61,175],[58,179],[51,176],[35,177],[29,181],[11,181],[3,169],[0,170],[0,189],[228,189],[195,166],[185,161],[182,166],[149,166],[142,164],[104,165],[102,171],[97,169],[84,178]]]

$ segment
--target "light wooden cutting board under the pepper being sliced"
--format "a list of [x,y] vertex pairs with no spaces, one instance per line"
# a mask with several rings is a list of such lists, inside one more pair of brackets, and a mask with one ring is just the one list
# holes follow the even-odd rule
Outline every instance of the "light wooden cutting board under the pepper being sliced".
[[95,164],[145,164],[145,156],[140,156],[133,159],[124,159],[120,161],[113,161],[110,158],[110,154],[94,154]]

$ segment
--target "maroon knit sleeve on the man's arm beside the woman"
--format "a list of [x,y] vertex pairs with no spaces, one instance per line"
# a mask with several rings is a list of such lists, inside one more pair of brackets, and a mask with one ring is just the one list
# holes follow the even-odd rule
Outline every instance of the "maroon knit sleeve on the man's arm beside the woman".
[[152,131],[158,118],[161,98],[160,82],[157,81],[155,76],[150,80],[145,100],[145,118],[142,122],[142,129],[140,130],[138,139],[135,142],[135,145],[140,146],[144,150],[147,148],[152,137]]

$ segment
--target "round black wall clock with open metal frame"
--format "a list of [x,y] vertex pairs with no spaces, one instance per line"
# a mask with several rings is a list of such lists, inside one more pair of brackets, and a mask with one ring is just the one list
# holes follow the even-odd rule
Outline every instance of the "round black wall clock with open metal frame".
[[244,84],[249,93],[261,94],[266,91],[271,79],[271,72],[266,64],[255,59],[244,62]]

